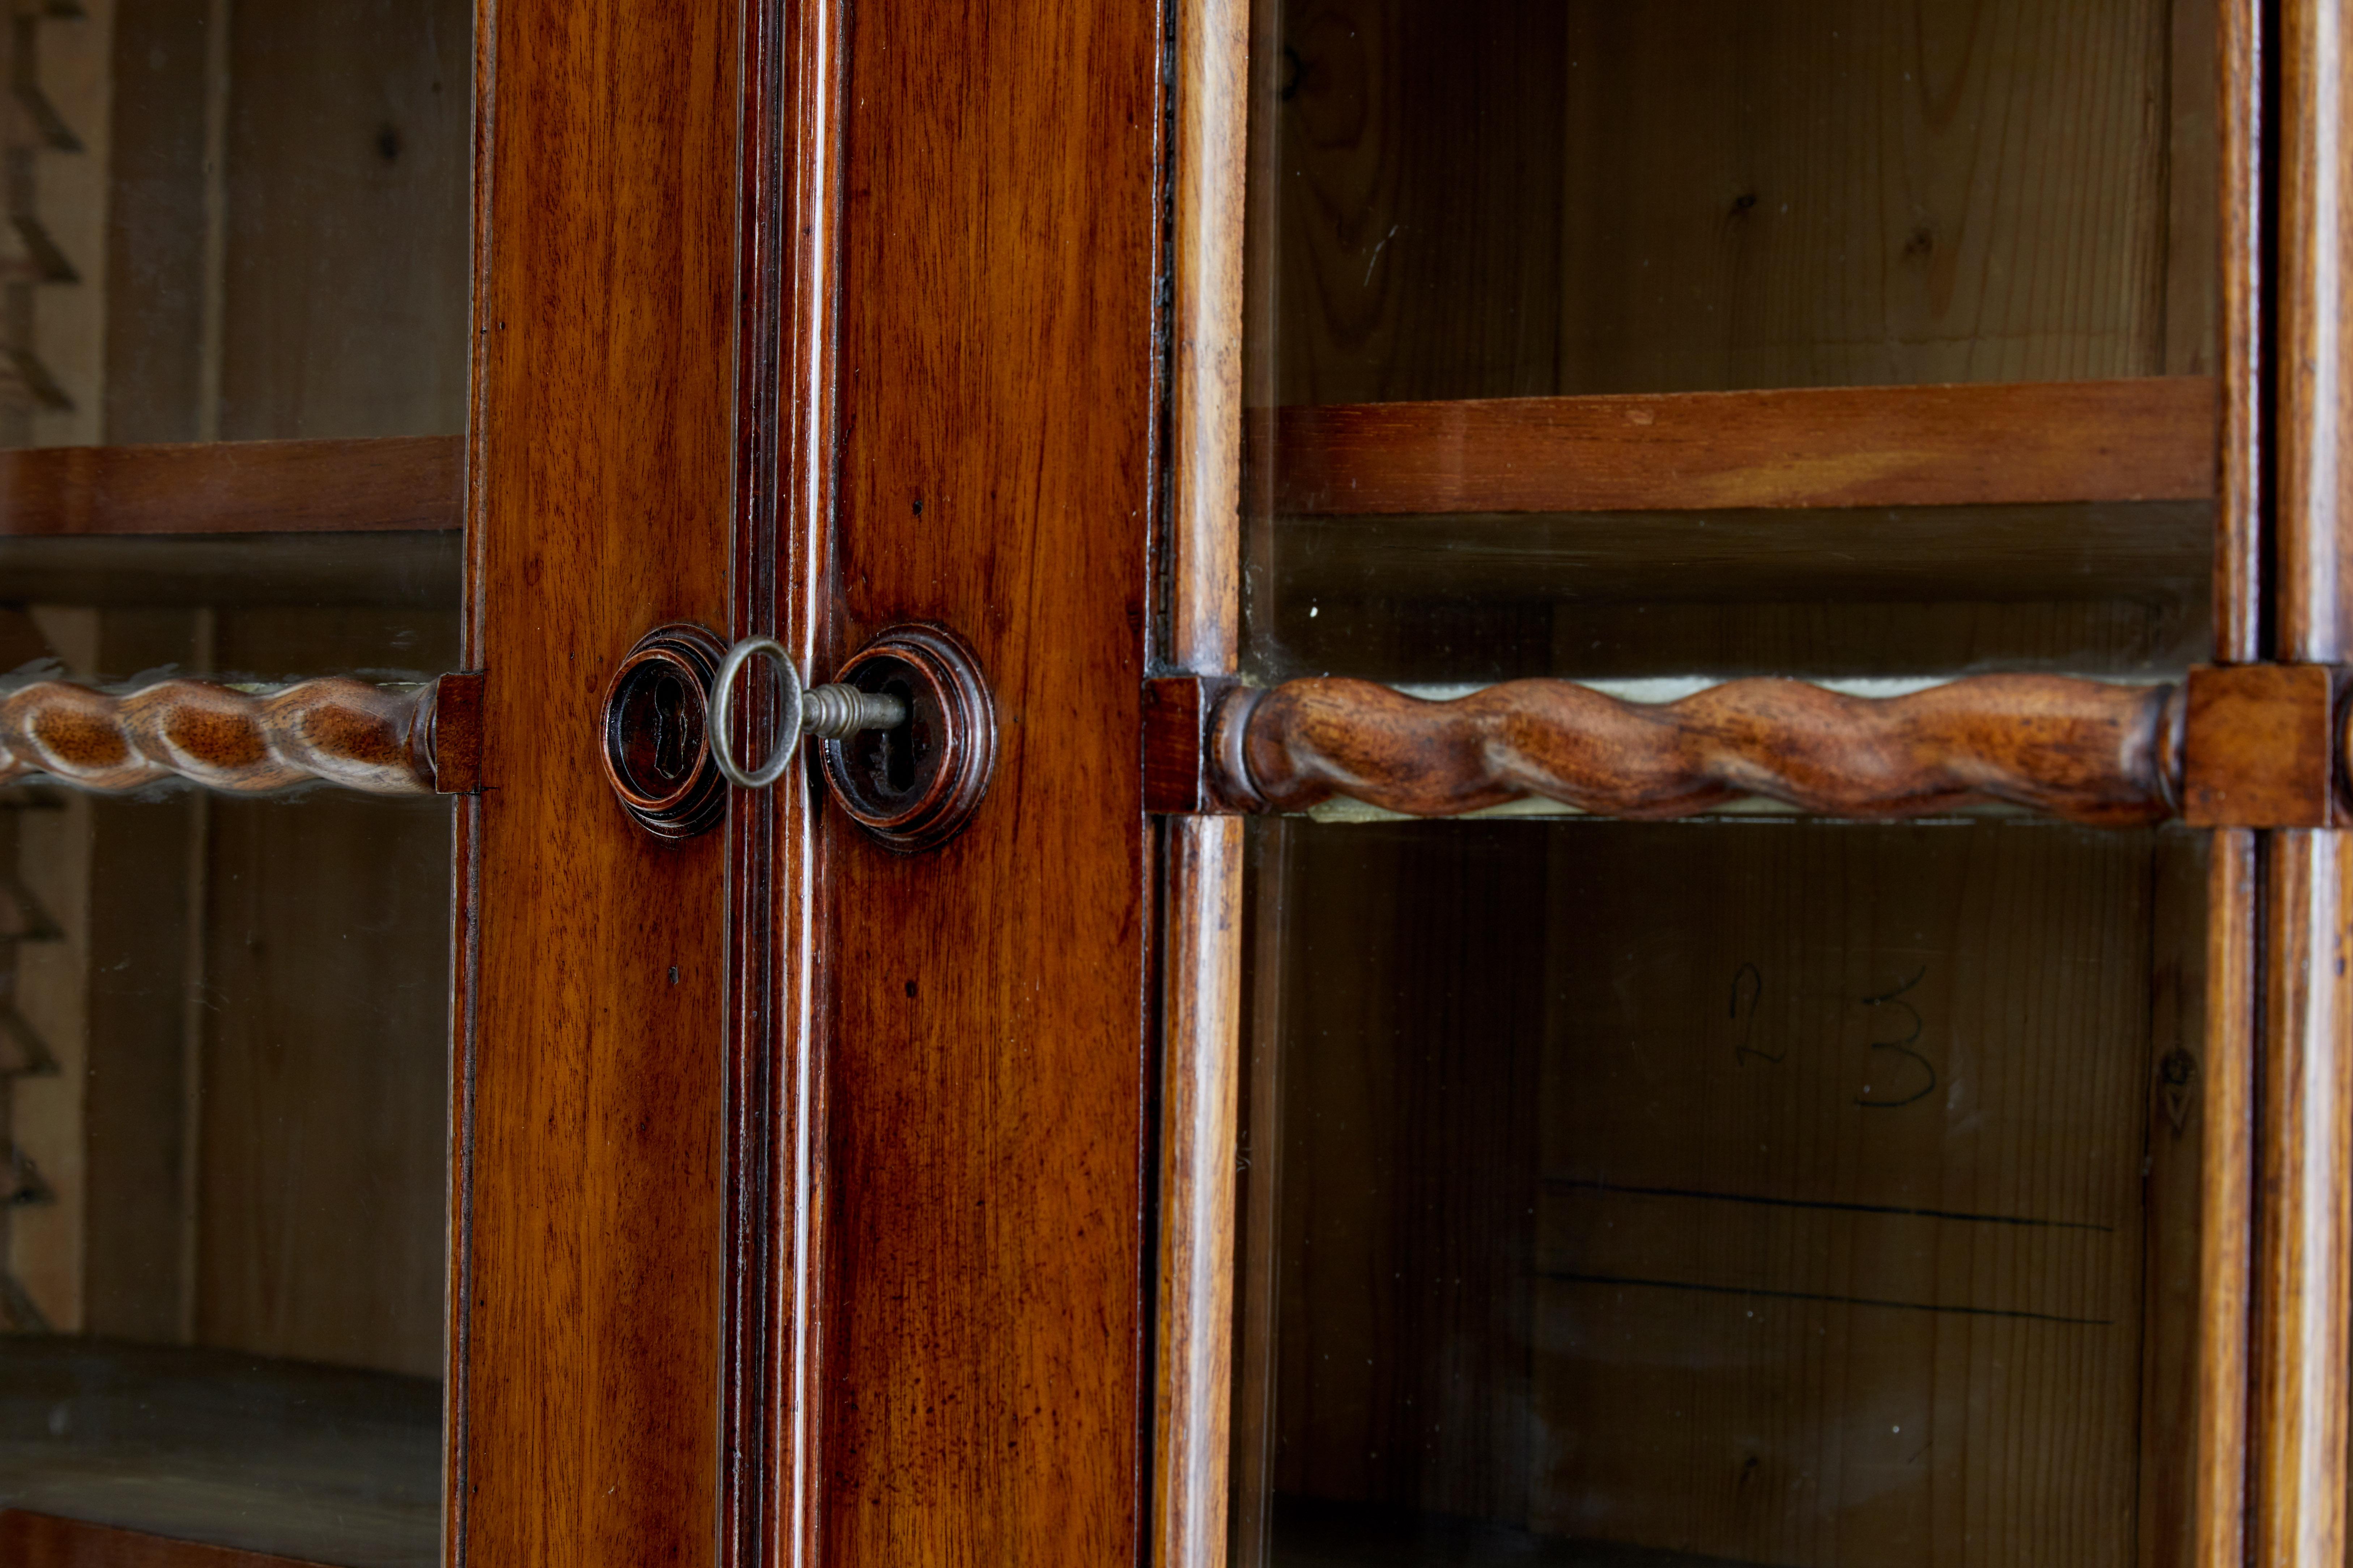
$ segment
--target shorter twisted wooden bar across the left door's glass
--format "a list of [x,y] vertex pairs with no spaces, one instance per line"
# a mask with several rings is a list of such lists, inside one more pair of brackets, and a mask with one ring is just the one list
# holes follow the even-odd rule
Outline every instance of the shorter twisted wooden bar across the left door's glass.
[[38,682],[0,698],[0,783],[122,792],[165,778],[264,795],[313,778],[433,795],[433,686],[327,677],[268,691],[167,679],[129,693]]

